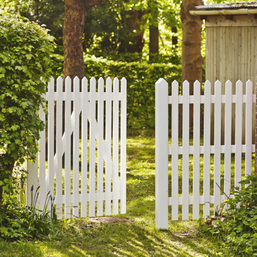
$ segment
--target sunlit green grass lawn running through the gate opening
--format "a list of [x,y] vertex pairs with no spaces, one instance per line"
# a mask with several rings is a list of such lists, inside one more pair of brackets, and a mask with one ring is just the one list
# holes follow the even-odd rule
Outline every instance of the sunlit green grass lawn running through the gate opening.
[[[202,156],[200,158],[200,186],[202,187]],[[92,223],[89,218],[72,219],[68,222],[63,222],[62,235],[60,236],[45,238],[43,241],[0,241],[0,256],[226,256],[223,250],[220,249],[218,240],[206,234],[191,232],[198,229],[198,223],[192,220],[181,221],[181,209],[179,221],[169,220],[169,230],[158,230],[155,228],[154,162],[155,139],[153,137],[142,136],[129,137],[127,139],[127,214],[116,216],[130,218],[134,223],[101,223],[97,225]],[[190,165],[193,166],[192,157]],[[211,159],[211,174],[213,174],[212,165],[213,158]],[[244,166],[243,161],[242,166]],[[179,193],[181,194],[181,159],[179,167]],[[233,165],[231,172],[233,173]],[[244,169],[242,169],[243,172]],[[192,173],[191,167],[190,183],[192,183]],[[221,177],[223,178],[223,175]],[[190,192],[192,193],[192,185]],[[171,214],[171,206],[169,209]],[[190,215],[192,217],[192,209]],[[235,255],[231,253],[231,256]]]

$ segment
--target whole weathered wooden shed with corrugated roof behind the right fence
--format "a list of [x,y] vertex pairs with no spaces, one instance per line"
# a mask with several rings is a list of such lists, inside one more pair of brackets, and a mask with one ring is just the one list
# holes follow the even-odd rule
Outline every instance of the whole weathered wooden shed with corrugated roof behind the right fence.
[[[235,94],[237,80],[243,82],[245,94],[246,82],[253,82],[256,93],[257,77],[257,1],[223,3],[197,6],[190,11],[205,20],[206,30],[206,67],[205,77],[212,85],[216,80],[222,83],[232,82],[232,94]],[[234,107],[233,107],[234,108]],[[224,107],[222,108],[222,143],[224,142]],[[232,124],[235,122],[232,110]],[[245,104],[243,104],[243,121]],[[242,142],[245,140],[245,124],[242,122]],[[255,108],[253,109],[253,143],[255,139]],[[213,127],[213,126],[211,126]],[[232,125],[232,144],[234,144],[234,126]]]

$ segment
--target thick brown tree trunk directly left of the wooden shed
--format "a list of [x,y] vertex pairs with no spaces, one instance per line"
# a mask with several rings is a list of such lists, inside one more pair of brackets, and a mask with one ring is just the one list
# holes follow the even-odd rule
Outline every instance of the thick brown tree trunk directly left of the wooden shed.
[[[201,57],[201,25],[198,16],[191,15],[197,5],[203,5],[202,0],[182,0],[180,18],[182,22],[182,83],[187,80],[190,84],[190,95],[194,94],[194,82],[202,83]],[[183,87],[182,87],[183,92]],[[180,108],[179,113],[182,114]],[[179,132],[182,133],[182,115],[179,115]],[[193,106],[190,106],[189,126],[193,129]]]

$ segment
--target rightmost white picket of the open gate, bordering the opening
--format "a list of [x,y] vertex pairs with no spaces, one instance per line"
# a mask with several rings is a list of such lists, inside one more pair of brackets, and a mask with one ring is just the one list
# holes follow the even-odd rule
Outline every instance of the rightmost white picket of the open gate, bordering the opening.
[[121,79],[120,105],[120,214],[126,213],[127,80]]

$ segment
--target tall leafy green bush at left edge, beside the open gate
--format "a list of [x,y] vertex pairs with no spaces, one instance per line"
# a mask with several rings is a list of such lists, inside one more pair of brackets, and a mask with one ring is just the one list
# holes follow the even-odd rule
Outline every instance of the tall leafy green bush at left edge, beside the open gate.
[[55,46],[48,30],[0,12],[0,189],[12,191],[12,165],[33,161],[43,122],[36,114],[49,81]]

